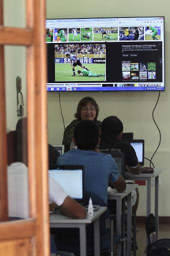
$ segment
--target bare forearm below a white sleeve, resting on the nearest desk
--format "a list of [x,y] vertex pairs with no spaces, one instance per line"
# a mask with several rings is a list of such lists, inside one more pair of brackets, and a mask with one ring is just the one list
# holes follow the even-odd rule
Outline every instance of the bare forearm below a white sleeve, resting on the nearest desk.
[[85,208],[72,199],[70,196],[67,196],[60,206],[60,211],[69,217],[73,218],[86,218]]

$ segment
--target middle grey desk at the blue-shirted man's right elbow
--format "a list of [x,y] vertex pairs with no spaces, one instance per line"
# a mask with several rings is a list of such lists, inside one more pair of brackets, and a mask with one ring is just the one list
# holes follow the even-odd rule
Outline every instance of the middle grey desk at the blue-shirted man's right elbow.
[[[114,188],[114,193],[108,193],[108,199],[116,200],[116,233],[122,236],[121,216],[122,199],[127,196],[127,256],[132,255],[132,190],[137,188],[138,184],[126,184],[126,190],[118,193]],[[118,255],[121,255],[121,247],[118,246]]]

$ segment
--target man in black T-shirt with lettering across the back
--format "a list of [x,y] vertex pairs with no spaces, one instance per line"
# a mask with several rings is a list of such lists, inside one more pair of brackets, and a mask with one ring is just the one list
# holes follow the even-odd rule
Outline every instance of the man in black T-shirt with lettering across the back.
[[108,150],[112,152],[123,152],[125,154],[126,168],[130,173],[140,174],[141,171],[146,170],[146,167],[141,168],[133,146],[128,141],[121,139],[123,135],[123,123],[117,116],[108,116],[103,120],[101,133],[101,152]]

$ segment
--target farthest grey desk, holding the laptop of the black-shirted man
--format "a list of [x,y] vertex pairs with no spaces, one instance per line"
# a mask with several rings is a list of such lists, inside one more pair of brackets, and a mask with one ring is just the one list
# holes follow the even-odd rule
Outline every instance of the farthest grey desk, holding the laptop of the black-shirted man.
[[159,235],[159,212],[158,212],[158,197],[159,197],[159,174],[163,172],[163,169],[155,168],[153,173],[141,173],[132,174],[125,173],[125,179],[130,180],[147,180],[147,216],[151,213],[151,179],[155,178],[155,221],[156,231]]

